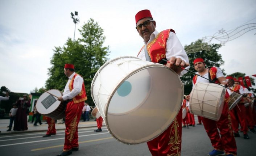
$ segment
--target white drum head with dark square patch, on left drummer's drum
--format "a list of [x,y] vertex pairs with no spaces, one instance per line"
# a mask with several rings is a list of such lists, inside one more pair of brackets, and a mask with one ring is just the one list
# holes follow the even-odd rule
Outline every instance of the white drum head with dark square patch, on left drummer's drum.
[[[57,89],[51,89],[48,90],[48,92],[54,94],[57,97],[61,96],[61,92]],[[56,110],[59,104],[61,104],[61,101],[58,101],[57,97],[54,97],[47,92],[43,93],[37,100],[37,111],[40,114],[50,114]]]

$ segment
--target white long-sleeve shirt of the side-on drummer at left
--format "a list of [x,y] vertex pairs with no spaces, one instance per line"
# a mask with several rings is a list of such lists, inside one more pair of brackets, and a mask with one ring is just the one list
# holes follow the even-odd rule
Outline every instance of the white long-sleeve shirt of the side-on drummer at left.
[[82,91],[83,78],[81,76],[77,75],[74,79],[74,84],[73,84],[74,89],[71,90],[71,92],[70,92],[69,83],[72,80],[72,78],[74,77],[74,75],[75,75],[75,72],[69,76],[69,80],[67,81],[67,84],[65,86],[63,96],[62,96],[64,101],[74,98],[75,96],[77,96],[77,94],[79,94]]

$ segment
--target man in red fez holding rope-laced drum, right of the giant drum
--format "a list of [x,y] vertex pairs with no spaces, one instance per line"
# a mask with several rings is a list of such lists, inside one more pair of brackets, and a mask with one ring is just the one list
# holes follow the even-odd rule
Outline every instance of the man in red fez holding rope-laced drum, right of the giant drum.
[[[194,68],[197,71],[197,74],[207,79],[210,78],[216,83],[221,83],[225,85],[227,84],[226,78],[224,77],[220,68],[211,67],[208,69],[205,66],[205,61],[202,58],[197,58],[194,60]],[[193,77],[193,87],[197,82],[211,83],[209,80],[195,75]],[[190,95],[186,97],[187,100],[189,100],[189,98]],[[208,153],[208,156],[225,155],[225,153],[227,156],[236,155],[237,148],[227,105],[228,98],[229,94],[226,92],[222,115],[218,121],[201,117],[207,135],[211,140],[212,146],[214,147],[214,149],[210,153]],[[218,131],[218,128],[220,132]]]

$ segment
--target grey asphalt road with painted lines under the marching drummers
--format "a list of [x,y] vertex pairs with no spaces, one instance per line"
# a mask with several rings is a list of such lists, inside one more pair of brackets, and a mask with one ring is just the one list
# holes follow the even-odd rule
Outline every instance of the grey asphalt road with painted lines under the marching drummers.
[[[102,132],[94,132],[95,127],[79,128],[79,151],[73,156],[150,156],[146,143],[126,145],[112,138],[103,127]],[[55,156],[62,150],[64,131],[42,138],[45,132],[30,132],[0,136],[1,156]],[[249,140],[236,138],[238,156],[256,156],[256,134],[249,134]],[[182,129],[182,156],[207,156],[212,150],[210,140],[202,125]]]

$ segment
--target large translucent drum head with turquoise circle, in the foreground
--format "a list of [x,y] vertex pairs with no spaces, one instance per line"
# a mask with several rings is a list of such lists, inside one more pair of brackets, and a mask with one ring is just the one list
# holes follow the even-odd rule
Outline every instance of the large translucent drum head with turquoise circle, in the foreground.
[[106,106],[106,126],[125,144],[147,142],[173,122],[183,101],[183,84],[166,66],[153,64],[127,75]]

